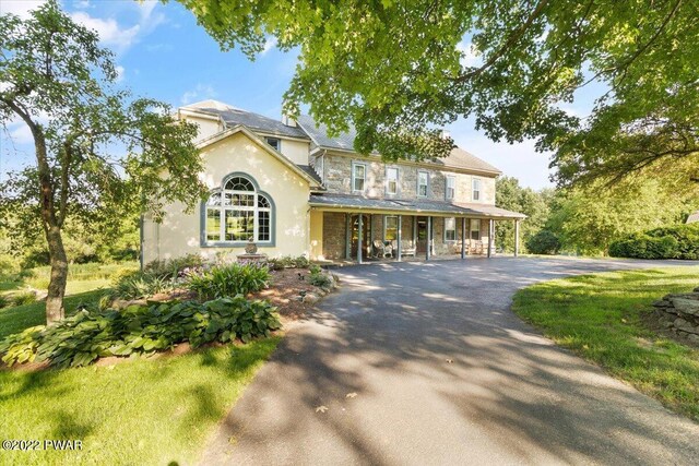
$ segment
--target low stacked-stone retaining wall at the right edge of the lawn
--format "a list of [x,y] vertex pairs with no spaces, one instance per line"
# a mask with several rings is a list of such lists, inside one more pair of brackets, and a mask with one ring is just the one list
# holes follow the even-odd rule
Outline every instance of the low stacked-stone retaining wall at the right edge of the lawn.
[[694,292],[666,295],[653,302],[655,315],[670,331],[699,343],[699,287]]

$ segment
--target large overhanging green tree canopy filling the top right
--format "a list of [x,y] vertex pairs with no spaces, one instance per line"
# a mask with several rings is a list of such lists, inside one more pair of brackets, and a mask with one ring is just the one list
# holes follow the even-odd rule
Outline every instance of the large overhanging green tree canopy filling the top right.
[[[287,110],[353,122],[360,152],[445,155],[424,129],[475,116],[495,141],[555,151],[564,183],[649,167],[699,181],[696,1],[178,1],[224,49],[299,48]],[[589,118],[565,111],[590,83]]]

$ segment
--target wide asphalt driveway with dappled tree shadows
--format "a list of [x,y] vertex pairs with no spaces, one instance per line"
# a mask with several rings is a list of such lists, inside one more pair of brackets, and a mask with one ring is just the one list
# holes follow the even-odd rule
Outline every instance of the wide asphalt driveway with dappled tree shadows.
[[538,280],[649,264],[662,265],[495,258],[340,270],[341,291],[289,330],[202,463],[699,464],[699,425],[509,310]]

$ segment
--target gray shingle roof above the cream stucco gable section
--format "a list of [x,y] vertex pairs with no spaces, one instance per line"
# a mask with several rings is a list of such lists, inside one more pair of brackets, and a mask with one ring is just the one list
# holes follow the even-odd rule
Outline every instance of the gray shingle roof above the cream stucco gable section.
[[242,110],[217,100],[203,100],[187,105],[182,108],[202,111],[210,115],[220,116],[227,127],[242,124],[251,130],[282,136],[309,139],[306,132],[298,127],[289,127],[279,120],[264,117],[252,111]]

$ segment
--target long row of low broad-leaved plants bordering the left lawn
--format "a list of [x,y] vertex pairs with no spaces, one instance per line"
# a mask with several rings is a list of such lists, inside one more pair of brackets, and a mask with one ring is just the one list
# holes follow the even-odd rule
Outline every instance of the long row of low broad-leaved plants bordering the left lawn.
[[204,303],[130,306],[122,311],[82,309],[57,324],[10,335],[0,344],[0,354],[9,366],[48,361],[57,368],[80,367],[99,357],[147,355],[182,342],[192,347],[235,338],[247,343],[280,327],[276,308],[240,295]]

